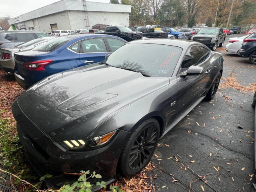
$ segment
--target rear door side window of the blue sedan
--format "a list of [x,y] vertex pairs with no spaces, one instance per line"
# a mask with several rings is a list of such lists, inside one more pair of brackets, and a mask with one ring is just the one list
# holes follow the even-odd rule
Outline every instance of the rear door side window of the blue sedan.
[[94,38],[82,41],[80,53],[107,52],[103,38]]

